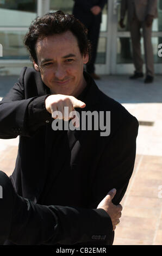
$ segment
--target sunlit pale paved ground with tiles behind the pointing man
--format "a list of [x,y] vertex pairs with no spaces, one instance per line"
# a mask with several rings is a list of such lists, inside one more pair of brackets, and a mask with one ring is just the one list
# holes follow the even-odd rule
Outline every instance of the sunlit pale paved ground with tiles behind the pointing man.
[[[16,82],[0,77],[0,97]],[[127,76],[102,76],[98,86],[140,122],[135,167],[123,200],[114,245],[162,245],[162,76],[152,84]],[[10,175],[18,138],[0,139],[0,169]]]

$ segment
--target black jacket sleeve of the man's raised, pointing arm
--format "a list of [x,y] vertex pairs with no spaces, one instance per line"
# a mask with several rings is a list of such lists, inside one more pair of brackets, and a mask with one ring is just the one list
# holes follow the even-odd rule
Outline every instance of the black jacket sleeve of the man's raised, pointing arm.
[[45,99],[48,95],[25,98],[24,74],[21,71],[18,82],[9,93],[0,101],[0,138],[10,139],[21,136],[32,136],[51,115],[46,111]]

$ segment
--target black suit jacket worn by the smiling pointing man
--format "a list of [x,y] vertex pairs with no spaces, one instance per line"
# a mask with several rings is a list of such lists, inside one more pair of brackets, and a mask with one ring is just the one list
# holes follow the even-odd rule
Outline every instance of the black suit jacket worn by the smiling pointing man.
[[[134,168],[138,121],[120,103],[102,93],[88,74],[84,75],[89,86],[84,99],[86,108],[78,111],[110,111],[111,131],[107,137],[101,137],[101,131],[67,132],[66,161],[71,172],[62,175],[65,159],[61,155],[61,163],[54,170],[57,197],[52,204],[96,208],[114,187],[117,193],[113,203],[119,204]],[[44,102],[49,94],[40,73],[23,68],[18,82],[0,102],[0,137],[20,135],[11,180],[20,196],[40,204],[48,163],[53,157],[53,119]]]

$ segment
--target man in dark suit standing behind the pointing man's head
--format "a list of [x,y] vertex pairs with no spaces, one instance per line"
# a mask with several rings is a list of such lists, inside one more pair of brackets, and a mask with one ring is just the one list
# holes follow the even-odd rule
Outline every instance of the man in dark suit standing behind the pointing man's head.
[[86,71],[95,80],[100,77],[95,73],[95,61],[101,25],[102,9],[107,0],[74,0],[73,15],[88,28],[88,38],[91,42],[91,60],[86,65]]

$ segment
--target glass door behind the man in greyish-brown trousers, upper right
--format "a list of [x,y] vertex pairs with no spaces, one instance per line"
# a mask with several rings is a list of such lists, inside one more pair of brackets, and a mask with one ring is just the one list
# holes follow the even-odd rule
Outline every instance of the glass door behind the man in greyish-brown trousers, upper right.
[[[113,2],[113,5],[110,3]],[[110,72],[109,74],[132,74],[134,65],[132,59],[132,44],[130,32],[128,31],[127,17],[124,20],[125,28],[119,26],[120,21],[120,3],[121,0],[110,0],[110,24],[111,26],[111,41],[108,47],[111,48],[111,56],[109,59]],[[152,45],[154,53],[154,69],[156,74],[162,73],[162,58],[158,56],[158,45],[162,42],[162,1],[158,1],[158,18],[154,19],[152,26]],[[144,58],[144,41],[141,38],[141,51]],[[145,66],[144,66],[145,70]]]

